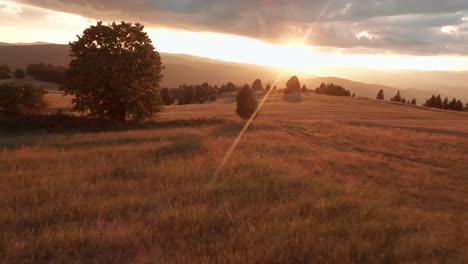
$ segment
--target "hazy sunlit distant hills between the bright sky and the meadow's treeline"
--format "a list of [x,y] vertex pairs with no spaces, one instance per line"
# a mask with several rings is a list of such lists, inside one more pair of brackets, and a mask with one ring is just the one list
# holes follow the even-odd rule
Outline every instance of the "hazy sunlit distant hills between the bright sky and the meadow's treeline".
[[[279,72],[282,74],[278,86],[282,87],[291,75],[297,74],[294,71],[275,67],[226,62],[184,54],[161,53],[161,57],[165,66],[162,82],[164,87],[203,82],[221,85],[229,81],[242,85],[250,84],[257,78],[262,79],[264,83],[273,83]],[[12,69],[25,68],[31,63],[66,66],[69,61],[68,45],[0,43],[0,64],[8,64]],[[357,96],[369,98],[374,98],[377,92],[383,89],[387,99],[398,90],[402,90],[403,97],[416,98],[419,103],[434,93],[468,99],[468,85],[465,85],[468,83],[467,72],[378,71],[346,67],[334,67],[328,69],[328,72],[336,72],[331,75],[336,77],[316,77],[312,74],[302,74],[299,77],[305,80],[310,89],[316,88],[322,82],[333,82],[344,86]]]

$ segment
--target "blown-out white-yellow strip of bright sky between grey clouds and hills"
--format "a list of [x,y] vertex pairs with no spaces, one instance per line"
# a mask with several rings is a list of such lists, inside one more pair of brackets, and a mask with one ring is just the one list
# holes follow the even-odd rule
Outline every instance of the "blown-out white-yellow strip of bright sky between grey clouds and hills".
[[[68,43],[76,34],[96,21],[83,16],[56,12],[12,1],[4,3],[0,13],[11,22],[0,25],[0,41],[3,42],[52,42]],[[24,21],[18,27],[21,14],[33,10],[46,19]],[[15,22],[16,21],[16,22]],[[409,56],[383,54],[351,54],[348,50],[336,49],[330,52],[323,48],[306,46],[303,40],[289,39],[282,44],[212,32],[191,32],[172,28],[147,28],[158,51],[189,54],[230,62],[275,66],[312,74],[328,74],[331,67],[359,67],[371,69],[412,69],[412,70],[468,70],[466,56]],[[444,34],[454,34],[454,27],[443,27]],[[359,37],[369,38],[361,32]]]

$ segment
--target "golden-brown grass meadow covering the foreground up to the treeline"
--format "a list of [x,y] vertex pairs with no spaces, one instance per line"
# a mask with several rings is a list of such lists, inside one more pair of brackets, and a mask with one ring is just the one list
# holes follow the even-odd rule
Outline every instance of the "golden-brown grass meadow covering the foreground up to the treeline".
[[215,175],[234,110],[0,125],[0,262],[468,261],[466,113],[274,94]]

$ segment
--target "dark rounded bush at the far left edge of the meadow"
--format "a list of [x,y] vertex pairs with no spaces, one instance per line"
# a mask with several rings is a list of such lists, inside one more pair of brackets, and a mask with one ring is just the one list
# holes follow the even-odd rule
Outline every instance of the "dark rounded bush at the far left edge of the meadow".
[[7,116],[39,113],[47,105],[46,93],[46,90],[31,84],[0,84],[0,111]]

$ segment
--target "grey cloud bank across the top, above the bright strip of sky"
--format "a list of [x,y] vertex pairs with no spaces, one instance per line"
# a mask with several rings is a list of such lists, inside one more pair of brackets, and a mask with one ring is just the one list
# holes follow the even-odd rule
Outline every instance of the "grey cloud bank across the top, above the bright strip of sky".
[[[125,19],[271,42],[307,35],[308,44],[324,47],[468,54],[466,0],[17,1],[104,21]],[[441,30],[447,26],[456,28],[456,34]]]

